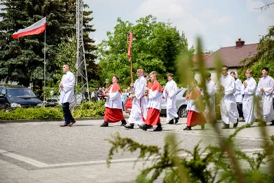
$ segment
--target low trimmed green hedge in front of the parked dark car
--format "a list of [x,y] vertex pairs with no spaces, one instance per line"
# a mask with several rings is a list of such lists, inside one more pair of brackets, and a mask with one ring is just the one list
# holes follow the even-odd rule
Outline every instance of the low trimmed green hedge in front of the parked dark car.
[[0,120],[60,118],[63,118],[60,108],[16,108],[10,112],[0,111]]

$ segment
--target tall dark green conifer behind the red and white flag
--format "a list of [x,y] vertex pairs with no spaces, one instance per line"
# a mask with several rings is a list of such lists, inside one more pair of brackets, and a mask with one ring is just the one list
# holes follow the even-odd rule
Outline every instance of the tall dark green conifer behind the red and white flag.
[[[58,65],[53,62],[58,54],[58,45],[62,38],[75,35],[75,1],[69,0],[0,0],[4,6],[0,16],[0,77],[8,81],[29,86],[31,80],[39,81],[34,86],[42,87],[44,78],[44,34],[24,36],[18,40],[12,39],[12,34],[47,16],[47,81],[53,81],[53,75]],[[87,8],[87,7],[86,7]],[[89,75],[95,75],[95,56],[92,51],[94,40],[88,38],[88,33],[95,31],[90,25],[90,14],[84,12],[84,47]],[[66,62],[67,60],[63,60]]]

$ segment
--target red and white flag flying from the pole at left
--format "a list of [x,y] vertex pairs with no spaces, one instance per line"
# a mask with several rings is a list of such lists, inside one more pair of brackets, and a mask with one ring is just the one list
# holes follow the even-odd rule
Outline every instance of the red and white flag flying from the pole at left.
[[15,32],[12,35],[12,38],[20,38],[22,36],[29,36],[34,34],[41,34],[46,29],[46,17],[41,19],[40,21],[34,23],[33,25],[25,28],[25,29],[19,29],[18,32]]

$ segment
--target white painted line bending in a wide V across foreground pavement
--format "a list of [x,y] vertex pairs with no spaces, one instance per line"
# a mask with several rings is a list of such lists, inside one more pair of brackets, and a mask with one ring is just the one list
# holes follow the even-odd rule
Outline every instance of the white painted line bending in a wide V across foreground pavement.
[[[242,149],[243,152],[251,152],[251,151],[262,151],[263,149]],[[81,164],[102,164],[106,163],[106,160],[95,160],[95,161],[86,161],[86,162],[67,162],[67,163],[57,163],[57,164],[46,164],[44,162],[40,162],[37,160],[34,160],[32,158],[27,158],[25,156],[20,156],[14,153],[10,153],[8,151],[4,151],[0,149],[0,154],[4,156],[8,156],[10,158],[14,158],[15,160],[20,160],[21,162],[25,162],[27,164],[31,164],[34,167],[38,168],[47,168],[47,167],[65,167],[65,166],[73,166],[73,165],[81,165]],[[203,155],[206,155],[207,153],[204,153]],[[190,156],[190,154],[179,154],[180,157],[184,156]],[[152,160],[153,158],[159,158],[159,157],[150,157],[149,160]],[[111,162],[132,162],[138,160],[138,158],[124,158],[124,159],[115,159],[111,160]],[[142,160],[142,159],[140,159]]]

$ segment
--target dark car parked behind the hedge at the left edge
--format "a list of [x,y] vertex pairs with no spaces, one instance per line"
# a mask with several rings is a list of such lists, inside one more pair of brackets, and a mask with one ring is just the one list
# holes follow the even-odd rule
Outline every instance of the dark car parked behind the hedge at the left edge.
[[0,86],[0,109],[5,111],[15,108],[43,106],[42,101],[30,88],[23,86]]

